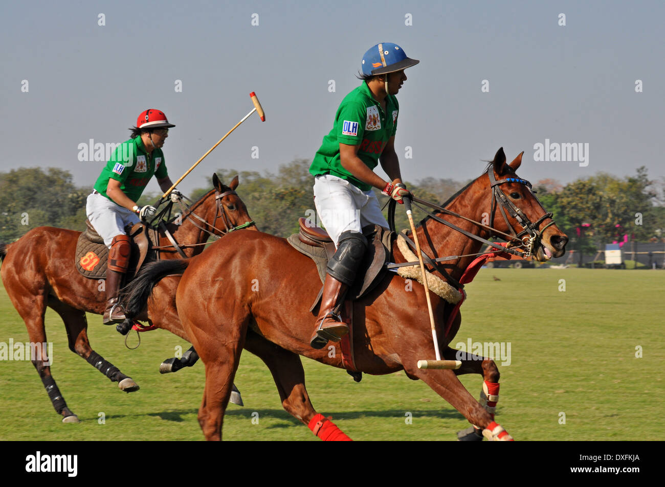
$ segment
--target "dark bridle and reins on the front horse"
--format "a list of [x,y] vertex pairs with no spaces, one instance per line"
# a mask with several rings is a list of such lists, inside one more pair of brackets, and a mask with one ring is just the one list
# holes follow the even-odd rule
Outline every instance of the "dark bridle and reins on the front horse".
[[[428,206],[432,209],[435,209],[435,210],[439,211],[440,213],[444,213],[445,215],[450,215],[452,217],[457,217],[457,218],[466,220],[470,223],[473,223],[475,225],[478,225],[479,227],[482,227],[484,229],[489,230],[491,232],[490,235],[497,235],[497,236],[500,235],[501,237],[507,237],[507,241],[509,242],[509,246],[507,246],[505,248],[501,248],[501,251],[507,252],[509,254],[517,255],[517,256],[520,256],[520,257],[523,257],[523,258],[528,258],[529,256],[534,254],[535,250],[538,248],[538,246],[541,243],[541,239],[543,238],[543,232],[545,231],[545,229],[547,229],[551,225],[555,224],[554,220],[552,220],[550,223],[545,225],[545,227],[543,227],[543,229],[539,229],[539,227],[543,223],[543,221],[547,220],[548,218],[549,219],[552,218],[552,213],[549,213],[549,212],[545,213],[545,215],[543,215],[537,221],[532,223],[529,220],[529,218],[523,213],[523,211],[521,211],[521,209],[519,209],[519,207],[517,207],[512,201],[510,201],[506,197],[506,195],[503,193],[503,191],[501,191],[501,189],[499,189],[499,186],[503,183],[521,183],[521,184],[523,184],[523,185],[525,185],[529,188],[529,191],[531,191],[531,194],[533,195],[533,197],[536,199],[536,201],[539,203],[539,205],[541,205],[541,208],[543,208],[543,205],[540,203],[539,199],[535,196],[535,194],[531,190],[531,183],[529,183],[529,181],[527,181],[526,179],[519,179],[517,177],[507,177],[507,178],[500,179],[499,181],[497,181],[496,178],[494,177],[494,171],[493,171],[493,166],[492,165],[490,165],[487,168],[487,175],[489,176],[490,189],[492,191],[491,220],[489,222],[489,225],[485,225],[484,223],[469,219],[467,217],[464,217],[463,215],[460,215],[459,213],[456,213],[454,211],[450,211],[450,210],[443,207],[443,206],[448,205],[451,201],[453,201],[456,197],[458,197],[461,193],[463,193],[471,185],[471,183],[473,183],[473,181],[471,181],[471,183],[467,184],[465,187],[460,189],[460,191],[458,191],[457,193],[452,195],[452,197],[450,197],[450,199],[448,199],[448,201],[446,201],[446,203],[444,203],[443,206],[434,205],[434,203],[430,203],[430,201],[426,201],[424,199],[420,199],[420,198],[415,197],[415,196],[412,198],[413,206],[418,208],[423,213],[426,213],[426,215],[428,215],[428,217],[430,217],[434,221],[437,221],[438,223],[442,223],[443,225],[446,225],[447,227],[450,227],[451,229],[453,229],[453,230],[455,230],[459,233],[462,233],[462,235],[466,235],[466,237],[469,237],[469,239],[473,239],[475,241],[479,241],[483,244],[489,245],[489,248],[488,248],[487,252],[478,252],[476,254],[465,254],[465,255],[456,255],[456,256],[446,256],[446,257],[439,257],[439,258],[431,258],[425,252],[422,252],[422,257],[425,260],[425,262],[430,264],[430,266],[432,266],[434,269],[438,270],[438,272],[440,272],[440,274],[445,276],[457,288],[464,288],[464,285],[461,284],[458,280],[456,280],[452,276],[450,276],[450,274],[446,271],[446,269],[444,269],[442,266],[440,266],[440,264],[438,264],[438,262],[442,262],[444,260],[454,260],[454,259],[461,258],[461,257],[466,257],[466,256],[475,256],[475,255],[487,254],[487,253],[490,253],[492,251],[492,249],[496,247],[496,244],[493,243],[493,242],[490,242],[486,239],[483,239],[482,237],[479,237],[478,235],[473,235],[473,233],[470,233],[470,232],[468,232],[464,229],[461,229],[457,225],[454,225],[453,223],[450,223],[449,221],[446,221],[446,220],[438,217],[437,215],[434,215],[434,213],[424,209],[424,207],[422,207],[421,205],[426,205],[426,206]],[[501,231],[494,228],[494,213],[495,213],[495,209],[497,207],[497,201],[499,203],[501,203],[501,207],[499,207],[499,209],[501,210],[501,215],[503,215],[503,219],[505,220],[505,223],[506,223],[507,227],[509,228],[509,230],[511,232],[511,235],[509,235],[507,233],[504,233],[504,232],[501,232]],[[390,229],[392,231],[395,231],[395,227],[394,227],[394,211],[395,211],[395,206],[396,206],[395,203],[396,202],[391,199],[390,200],[390,206],[388,208],[388,215],[389,215],[388,216],[388,221],[390,222],[389,225],[390,225]],[[418,203],[420,203],[420,204],[418,204]],[[544,210],[544,208],[543,208],[543,210]],[[522,226],[523,231],[521,231],[520,233],[515,233],[515,231],[513,230],[513,227],[508,222],[506,211],[509,213],[509,215],[511,215],[511,217],[513,217],[515,220],[517,220],[517,222]],[[410,246],[412,246],[412,248],[416,248],[416,244],[406,236],[406,231],[400,232],[400,235],[402,237],[404,237],[404,239],[406,240],[406,243],[408,243]],[[513,244],[513,245],[511,245],[511,244]],[[523,248],[523,250],[519,250],[519,248]],[[421,251],[422,251],[422,249],[421,249]],[[414,263],[417,263],[417,262],[408,262],[408,263],[403,263],[403,264],[392,264],[391,266],[392,267],[406,266],[406,265],[410,265],[410,264],[414,264]]]

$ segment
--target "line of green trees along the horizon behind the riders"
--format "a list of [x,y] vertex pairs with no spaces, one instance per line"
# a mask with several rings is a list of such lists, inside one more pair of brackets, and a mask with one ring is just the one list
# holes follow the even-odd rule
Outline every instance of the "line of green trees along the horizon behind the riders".
[[[237,193],[245,201],[249,214],[261,231],[287,237],[297,232],[299,217],[315,214],[313,177],[310,161],[295,159],[280,165],[275,173],[219,169],[217,174],[228,183],[239,175]],[[413,193],[434,203],[443,203],[469,181],[427,177],[407,183]],[[209,185],[188,195],[196,200],[212,187]],[[604,244],[622,241],[625,235],[636,241],[663,241],[665,237],[665,185],[648,178],[645,167],[634,175],[616,177],[597,173],[561,185],[543,179],[533,189],[547,211],[578,250],[593,252]],[[388,197],[376,191],[380,204]],[[0,242],[12,242],[40,226],[82,231],[85,228],[85,204],[90,187],[76,187],[68,171],[49,167],[12,169],[0,173]],[[139,205],[154,204],[160,194],[144,194]],[[408,228],[402,208],[396,212],[396,228]],[[414,210],[416,220],[424,214]]]

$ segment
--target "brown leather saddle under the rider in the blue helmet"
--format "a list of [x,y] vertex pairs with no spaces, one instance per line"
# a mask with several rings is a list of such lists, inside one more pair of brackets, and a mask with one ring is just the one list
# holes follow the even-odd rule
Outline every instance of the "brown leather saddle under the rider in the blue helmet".
[[[287,241],[298,252],[307,255],[314,261],[323,284],[328,260],[335,252],[332,239],[324,229],[311,225],[311,222],[305,218],[299,219],[298,223],[300,225],[299,233],[291,235]],[[392,232],[379,225],[368,225],[362,229],[362,235],[367,238],[368,249],[358,268],[356,282],[346,294],[346,299],[352,301],[362,298],[381,282],[387,272],[386,263],[392,254]],[[323,286],[310,311],[319,304],[322,294]]]

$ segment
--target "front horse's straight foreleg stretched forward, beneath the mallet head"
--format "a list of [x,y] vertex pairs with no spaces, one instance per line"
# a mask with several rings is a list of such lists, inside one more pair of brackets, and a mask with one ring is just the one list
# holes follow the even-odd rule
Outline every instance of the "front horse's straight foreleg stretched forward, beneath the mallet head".
[[[454,349],[450,350],[454,353],[457,352]],[[454,354],[444,354],[444,356],[450,356],[451,359],[454,359]],[[407,359],[405,363],[408,364],[404,366],[406,373],[422,379],[427,385],[432,387],[438,395],[446,399],[452,407],[460,411],[471,425],[476,425],[483,429],[482,433],[485,437],[492,440],[513,439],[500,425],[495,423],[489,412],[478,401],[473,399],[473,396],[471,396],[469,391],[460,382],[460,379],[458,379],[456,375],[457,371],[418,369],[415,357]]]

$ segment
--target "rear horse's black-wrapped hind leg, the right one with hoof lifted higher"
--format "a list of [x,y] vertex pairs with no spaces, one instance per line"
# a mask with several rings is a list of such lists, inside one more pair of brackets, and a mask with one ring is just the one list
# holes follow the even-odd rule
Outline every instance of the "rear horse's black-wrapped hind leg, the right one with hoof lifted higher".
[[92,367],[106,375],[110,381],[117,382],[118,387],[122,391],[126,393],[138,391],[138,384],[131,377],[124,375],[118,367],[106,361],[104,357],[90,347],[90,342],[88,341],[88,320],[86,320],[84,311],[75,310],[71,306],[55,300],[55,298],[49,300],[49,306],[65,322],[67,340],[71,351],[86,359]]

